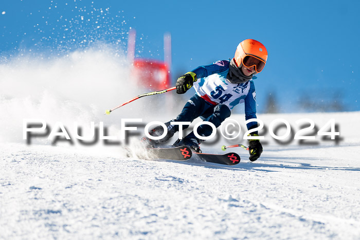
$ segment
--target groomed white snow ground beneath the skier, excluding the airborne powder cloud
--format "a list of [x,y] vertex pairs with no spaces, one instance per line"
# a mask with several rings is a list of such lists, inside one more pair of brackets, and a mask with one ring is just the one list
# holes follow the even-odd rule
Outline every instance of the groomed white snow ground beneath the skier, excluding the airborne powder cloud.
[[255,162],[232,149],[242,157],[232,167],[127,158],[121,147],[2,143],[0,238],[359,239],[360,113],[259,118],[335,118],[344,140],[269,142]]

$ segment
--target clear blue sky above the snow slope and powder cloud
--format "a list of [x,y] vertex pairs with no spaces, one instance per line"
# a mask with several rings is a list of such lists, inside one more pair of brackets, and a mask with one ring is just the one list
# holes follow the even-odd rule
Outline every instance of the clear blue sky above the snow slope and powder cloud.
[[[29,49],[58,54],[99,40],[126,49],[131,27],[137,57],[163,60],[163,35],[170,32],[175,78],[232,58],[251,38],[269,54],[255,80],[259,112],[269,94],[280,112],[311,112],[333,101],[360,110],[359,9],[358,1],[1,0],[0,54],[3,60]],[[305,100],[315,107],[304,108]]]

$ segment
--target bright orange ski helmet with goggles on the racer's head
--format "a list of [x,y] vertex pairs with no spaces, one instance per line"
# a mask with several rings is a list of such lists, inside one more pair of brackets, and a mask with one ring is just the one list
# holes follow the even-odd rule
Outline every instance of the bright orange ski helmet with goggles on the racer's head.
[[245,67],[255,66],[257,73],[264,69],[267,60],[267,50],[262,43],[254,39],[242,41],[235,52],[234,61],[238,67],[243,64]]

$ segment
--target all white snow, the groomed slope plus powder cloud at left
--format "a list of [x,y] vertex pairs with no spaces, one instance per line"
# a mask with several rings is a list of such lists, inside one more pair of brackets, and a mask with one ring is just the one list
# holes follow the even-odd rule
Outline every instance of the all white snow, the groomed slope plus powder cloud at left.
[[[267,127],[264,152],[249,162],[247,151],[231,149],[242,158],[232,167],[127,158],[123,144],[52,146],[37,137],[27,145],[26,118],[43,119],[51,129],[60,121],[74,137],[74,122],[86,135],[91,121],[103,121],[117,135],[120,119],[168,121],[179,113],[182,104],[157,107],[168,93],[104,116],[149,91],[134,84],[124,57],[113,52],[104,46],[0,64],[0,239],[360,238],[360,112],[258,115]],[[342,140],[310,131],[313,144],[291,138],[280,144],[268,133],[279,118],[295,133],[303,128],[299,119],[312,119],[318,129],[335,119]],[[231,119],[244,129],[243,115]],[[206,141],[202,150],[247,144],[243,134]]]

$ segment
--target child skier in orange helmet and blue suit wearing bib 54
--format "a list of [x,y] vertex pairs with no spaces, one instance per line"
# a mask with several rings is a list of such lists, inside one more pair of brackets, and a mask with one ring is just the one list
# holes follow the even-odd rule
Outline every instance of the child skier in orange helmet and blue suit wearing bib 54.
[[[252,39],[242,41],[231,60],[222,60],[206,66],[199,66],[185,73],[176,81],[176,93],[185,94],[194,86],[196,94],[185,104],[182,112],[173,120],[166,122],[167,135],[160,140],[142,138],[151,146],[168,141],[179,130],[178,125],[170,122],[192,122],[201,117],[218,127],[231,115],[231,110],[239,103],[245,104],[245,119],[256,118],[256,94],[253,79],[261,72],[267,60],[267,50],[260,42]],[[248,130],[257,127],[257,122],[247,124]],[[184,129],[188,126],[184,126]],[[151,136],[160,136],[164,128],[156,126],[150,131]],[[200,136],[210,136],[212,127],[202,124],[197,128]],[[257,132],[251,136],[259,136]],[[199,144],[203,140],[193,132],[182,140],[177,140],[173,146],[187,145],[195,152],[201,152]],[[259,140],[249,140],[250,161],[257,160],[262,153]]]

